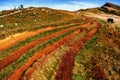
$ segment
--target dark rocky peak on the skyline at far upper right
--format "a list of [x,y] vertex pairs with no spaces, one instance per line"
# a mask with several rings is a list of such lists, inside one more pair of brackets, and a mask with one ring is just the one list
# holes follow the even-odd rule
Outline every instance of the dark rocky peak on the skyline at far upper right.
[[111,2],[106,2],[101,9],[106,13],[111,13],[120,16],[120,5],[113,4]]

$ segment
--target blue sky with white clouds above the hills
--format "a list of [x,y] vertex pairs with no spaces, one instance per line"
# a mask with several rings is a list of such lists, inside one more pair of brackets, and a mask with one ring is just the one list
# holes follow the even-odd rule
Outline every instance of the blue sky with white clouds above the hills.
[[75,11],[78,9],[100,7],[106,2],[120,5],[120,0],[0,0],[0,11],[13,9],[21,4],[24,5],[24,7],[49,7]]

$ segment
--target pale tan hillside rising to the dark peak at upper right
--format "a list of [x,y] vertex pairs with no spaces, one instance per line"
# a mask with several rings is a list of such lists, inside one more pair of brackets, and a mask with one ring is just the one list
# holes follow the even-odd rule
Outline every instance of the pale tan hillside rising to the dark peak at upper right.
[[[108,10],[105,7],[109,7]],[[118,5],[115,5],[113,3],[105,3],[102,7],[98,8],[88,8],[88,9],[80,9],[77,12],[80,13],[81,15],[85,15],[88,17],[94,17],[94,18],[99,18],[101,20],[104,20],[107,22],[108,18],[113,18],[114,19],[114,24],[115,26],[120,26],[120,7]]]

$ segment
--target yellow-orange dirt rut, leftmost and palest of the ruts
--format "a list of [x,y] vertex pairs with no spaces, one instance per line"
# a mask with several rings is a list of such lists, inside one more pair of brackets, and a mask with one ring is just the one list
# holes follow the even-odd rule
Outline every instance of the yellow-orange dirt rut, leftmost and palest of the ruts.
[[[83,16],[84,17],[84,16]],[[85,20],[86,20],[86,17],[84,17]],[[86,20],[87,21],[87,20]],[[25,32],[23,35],[20,35],[20,36],[17,36],[17,37],[13,37],[11,39],[7,39],[3,42],[0,41],[0,51],[5,51],[6,49],[12,47],[13,45],[21,42],[21,41],[24,41],[25,39],[31,37],[31,36],[35,36],[35,35],[38,35],[40,33],[43,33],[45,31],[49,31],[49,30],[53,30],[53,29],[57,29],[57,28],[60,28],[60,27],[63,27],[63,26],[68,26],[68,25],[72,25],[74,24],[75,22],[71,22],[69,24],[63,24],[61,26],[48,26],[46,28],[41,28],[41,29],[38,29],[37,31],[27,31]],[[78,22],[79,23],[79,22]],[[9,43],[8,43],[9,42]]]

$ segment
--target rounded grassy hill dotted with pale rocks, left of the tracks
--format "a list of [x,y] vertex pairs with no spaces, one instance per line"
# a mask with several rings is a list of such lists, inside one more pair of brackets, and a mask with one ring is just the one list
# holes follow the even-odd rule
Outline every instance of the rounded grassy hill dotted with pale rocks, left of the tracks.
[[[14,12],[14,10],[6,11],[2,15],[9,14],[10,12]],[[59,10],[50,8],[33,8],[28,10],[25,8],[20,13],[0,18],[0,25],[4,25],[4,27],[0,27],[0,37],[4,38],[16,32],[32,30],[36,26],[40,28],[46,25],[59,25],[70,19],[73,19],[73,15]]]

